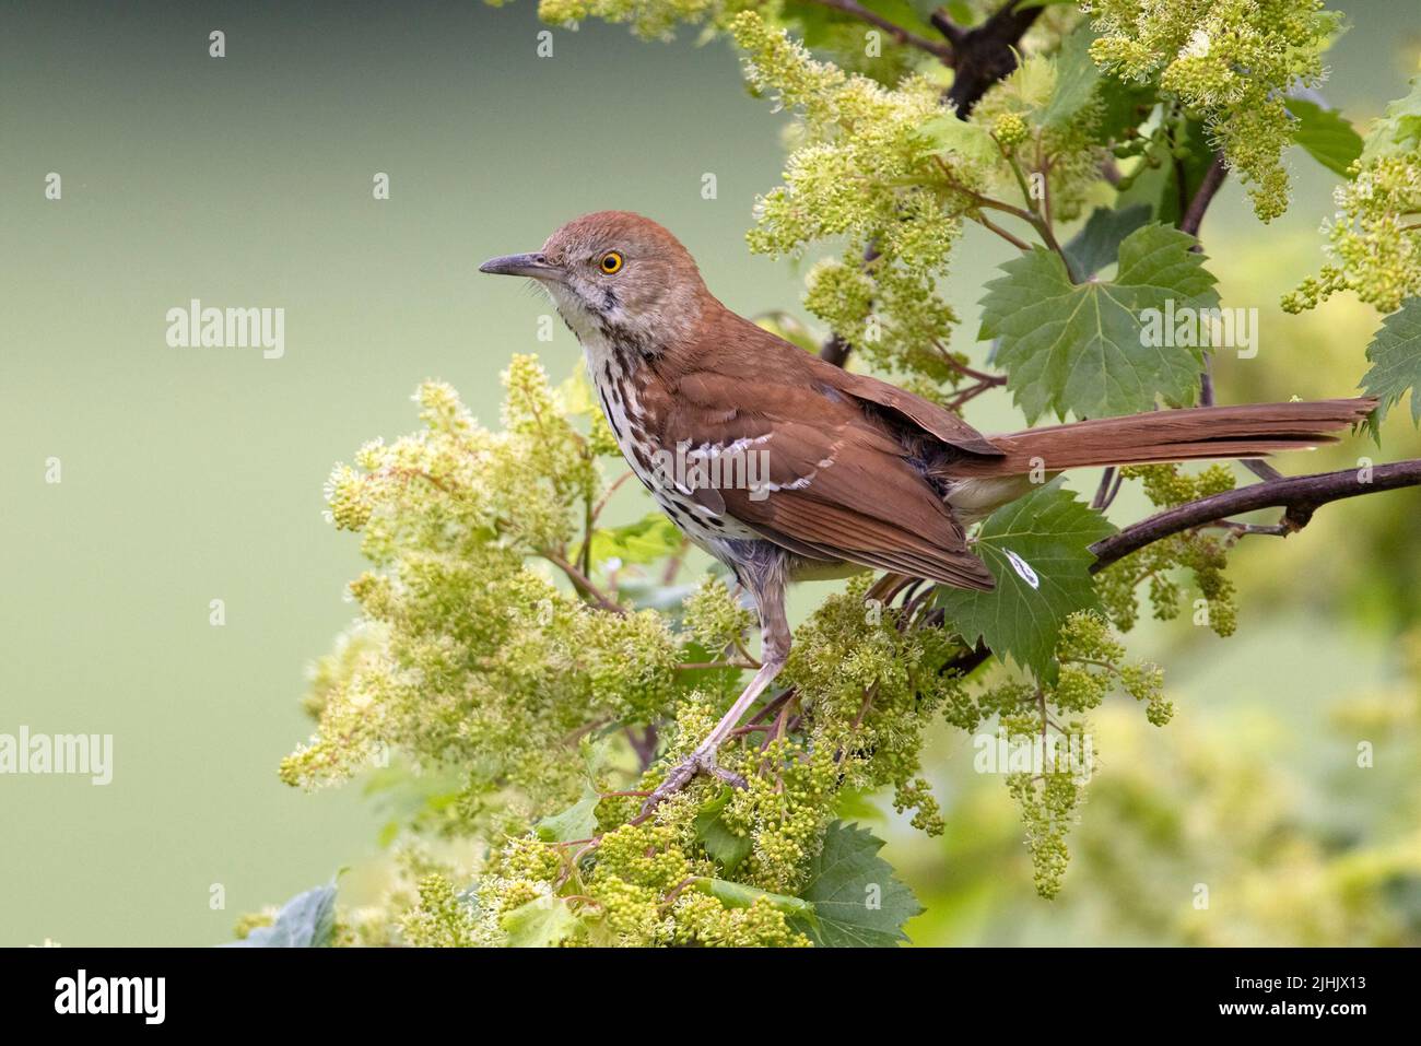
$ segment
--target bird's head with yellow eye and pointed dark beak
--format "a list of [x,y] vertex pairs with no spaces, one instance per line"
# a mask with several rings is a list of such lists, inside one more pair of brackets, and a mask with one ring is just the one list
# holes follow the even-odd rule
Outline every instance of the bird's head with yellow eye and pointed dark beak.
[[601,338],[642,354],[689,337],[710,300],[676,237],[625,210],[574,217],[540,250],[489,259],[479,271],[537,280],[584,345]]

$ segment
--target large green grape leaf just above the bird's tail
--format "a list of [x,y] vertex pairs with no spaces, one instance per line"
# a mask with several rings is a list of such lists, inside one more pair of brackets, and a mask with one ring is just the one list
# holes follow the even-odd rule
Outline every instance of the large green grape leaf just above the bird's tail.
[[1194,402],[1204,355],[1198,347],[1152,345],[1145,310],[1214,308],[1219,296],[1194,237],[1147,225],[1120,244],[1111,281],[1074,284],[1060,256],[1036,247],[1002,266],[982,298],[980,338],[1000,338],[995,360],[1027,421],[1101,418]]

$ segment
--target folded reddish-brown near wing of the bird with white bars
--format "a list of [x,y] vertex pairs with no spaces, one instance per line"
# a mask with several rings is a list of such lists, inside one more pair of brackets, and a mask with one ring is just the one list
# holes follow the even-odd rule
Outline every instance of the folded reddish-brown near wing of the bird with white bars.
[[657,412],[664,446],[762,441],[746,443],[763,451],[759,489],[718,493],[728,514],[766,540],[811,559],[992,588],[936,490],[853,399],[713,371],[686,374],[666,392]]

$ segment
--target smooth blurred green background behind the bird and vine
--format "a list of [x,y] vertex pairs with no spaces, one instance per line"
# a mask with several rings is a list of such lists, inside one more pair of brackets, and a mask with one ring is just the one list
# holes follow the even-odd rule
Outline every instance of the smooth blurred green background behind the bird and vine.
[[[1407,3],[1333,6],[1356,26],[1326,95],[1363,122],[1404,92],[1421,23]],[[745,250],[784,118],[746,94],[730,48],[587,24],[539,58],[543,28],[533,4],[473,0],[0,9],[0,732],[115,748],[107,787],[0,777],[0,945],[217,942],[341,864],[378,867],[358,783],[311,796],[276,779],[310,730],[303,671],[352,615],[355,540],[321,519],[321,483],[365,439],[415,426],[425,377],[493,421],[510,354],[573,371],[561,325],[537,340],[549,306],[480,279],[480,260],[627,207],[681,236],[737,311],[797,308],[800,273]],[[226,58],[207,55],[212,30]],[[1346,395],[1364,370],[1370,310],[1276,308],[1331,210],[1333,178],[1300,153],[1292,166],[1285,219],[1259,226],[1231,185],[1202,230],[1225,304],[1263,324],[1256,360],[1219,361],[1222,402]],[[44,198],[48,172],[63,200]],[[372,199],[377,172],[389,200]],[[958,347],[1003,259],[962,243]],[[284,358],[169,348],[165,313],[195,297],[286,308]],[[1353,441],[1283,468],[1417,455],[1404,414],[1380,452]],[[969,421],[1019,426],[1005,398]],[[1142,510],[1125,497],[1113,514]],[[1000,780],[942,730],[946,839],[860,812],[928,907],[914,939],[1417,941],[1418,510],[1417,492],[1383,495],[1286,544],[1245,541],[1232,640],[1141,627],[1133,648],[1167,667],[1178,715],[1164,730],[1135,708],[1101,716],[1103,773],[1056,902],[1032,890]],[[801,588],[796,610],[824,591]],[[1374,769],[1357,769],[1358,740]],[[347,878],[355,900],[375,883]]]

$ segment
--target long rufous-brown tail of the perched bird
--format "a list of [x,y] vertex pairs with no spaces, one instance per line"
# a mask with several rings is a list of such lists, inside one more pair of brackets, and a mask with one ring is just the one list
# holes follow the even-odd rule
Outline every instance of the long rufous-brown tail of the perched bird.
[[992,436],[1002,458],[952,462],[953,476],[1015,476],[1091,465],[1147,465],[1208,458],[1262,458],[1336,442],[1326,433],[1354,425],[1376,399],[1196,406]]

